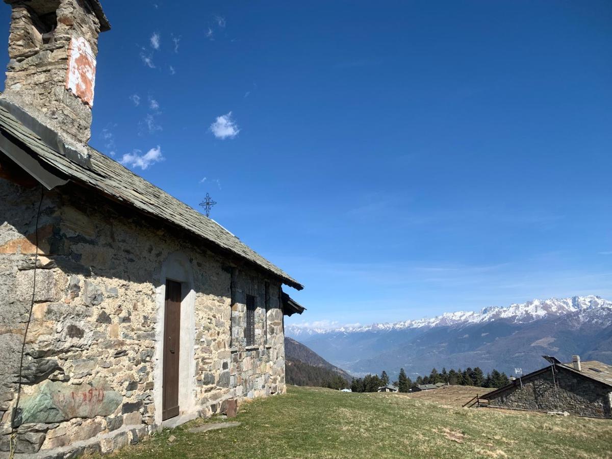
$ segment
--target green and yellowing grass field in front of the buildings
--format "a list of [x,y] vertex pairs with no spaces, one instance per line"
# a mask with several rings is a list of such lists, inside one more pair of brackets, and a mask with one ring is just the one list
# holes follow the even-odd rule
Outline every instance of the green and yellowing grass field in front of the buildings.
[[[164,430],[113,457],[612,458],[612,420],[467,409],[398,394],[289,386],[241,406],[239,427]],[[169,442],[171,435],[176,437]]]

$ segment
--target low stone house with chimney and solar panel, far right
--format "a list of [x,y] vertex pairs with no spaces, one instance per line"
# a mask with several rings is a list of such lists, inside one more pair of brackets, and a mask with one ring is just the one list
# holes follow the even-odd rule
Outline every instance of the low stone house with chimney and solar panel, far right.
[[544,356],[547,367],[515,379],[481,398],[495,408],[567,411],[578,416],[612,417],[612,366],[574,356],[570,364]]

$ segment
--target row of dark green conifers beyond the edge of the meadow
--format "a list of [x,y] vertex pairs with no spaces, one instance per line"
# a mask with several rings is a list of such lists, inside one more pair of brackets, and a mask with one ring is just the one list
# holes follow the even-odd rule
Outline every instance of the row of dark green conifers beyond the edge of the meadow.
[[[504,372],[493,370],[484,375],[483,371],[479,367],[466,368],[465,370],[453,370],[452,368],[447,371],[446,368],[442,368],[442,371],[433,368],[429,376],[419,376],[414,381],[406,376],[406,371],[401,368],[400,375],[397,381],[393,381],[393,386],[398,387],[400,392],[408,392],[408,390],[414,386],[421,384],[437,384],[444,383],[450,386],[476,386],[476,387],[503,387],[510,383],[510,379]],[[387,386],[389,384],[389,376],[386,371],[383,371],[380,376],[378,375],[367,375],[364,378],[353,379],[351,384],[351,390],[353,392],[377,392],[379,387]]]

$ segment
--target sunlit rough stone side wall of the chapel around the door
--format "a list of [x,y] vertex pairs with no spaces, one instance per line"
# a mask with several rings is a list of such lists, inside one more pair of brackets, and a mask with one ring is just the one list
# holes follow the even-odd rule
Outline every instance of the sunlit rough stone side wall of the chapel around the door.
[[[0,451],[34,284],[39,198],[39,187],[0,179]],[[18,452],[108,452],[159,428],[166,278],[185,286],[182,414],[285,392],[279,280],[76,185],[45,192],[41,209]],[[257,297],[250,347],[247,294]]]

